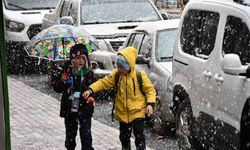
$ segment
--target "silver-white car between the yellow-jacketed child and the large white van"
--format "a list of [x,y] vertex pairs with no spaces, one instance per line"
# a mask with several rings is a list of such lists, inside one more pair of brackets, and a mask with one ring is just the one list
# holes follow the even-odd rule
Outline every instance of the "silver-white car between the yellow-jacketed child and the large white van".
[[172,57],[178,24],[178,19],[141,24],[123,44],[123,48],[133,46],[137,49],[136,67],[146,71],[156,89],[158,99],[152,120],[159,132],[164,129],[171,132],[175,125],[170,109],[172,93],[168,85],[172,81]]

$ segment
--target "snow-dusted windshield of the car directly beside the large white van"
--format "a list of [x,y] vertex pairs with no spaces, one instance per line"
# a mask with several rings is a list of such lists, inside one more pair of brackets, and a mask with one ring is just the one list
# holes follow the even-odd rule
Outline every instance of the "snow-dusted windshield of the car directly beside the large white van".
[[156,61],[172,61],[177,29],[161,30],[156,36]]

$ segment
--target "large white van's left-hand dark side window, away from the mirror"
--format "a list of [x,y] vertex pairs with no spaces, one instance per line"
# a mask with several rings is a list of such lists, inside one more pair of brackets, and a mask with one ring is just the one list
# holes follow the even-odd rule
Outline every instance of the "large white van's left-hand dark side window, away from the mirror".
[[184,17],[181,46],[185,53],[207,59],[214,48],[219,14],[190,10]]

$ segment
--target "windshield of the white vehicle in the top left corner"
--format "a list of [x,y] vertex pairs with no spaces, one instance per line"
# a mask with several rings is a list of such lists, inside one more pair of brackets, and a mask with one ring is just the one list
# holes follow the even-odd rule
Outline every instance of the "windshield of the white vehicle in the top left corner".
[[59,0],[6,0],[6,9],[10,10],[39,10],[54,9]]

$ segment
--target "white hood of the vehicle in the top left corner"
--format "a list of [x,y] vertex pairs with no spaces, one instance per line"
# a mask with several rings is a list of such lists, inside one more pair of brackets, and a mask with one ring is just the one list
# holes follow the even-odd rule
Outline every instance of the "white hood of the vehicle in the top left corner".
[[41,24],[45,13],[49,13],[49,10],[31,10],[31,11],[4,10],[4,17],[11,21],[17,21],[24,24]]

